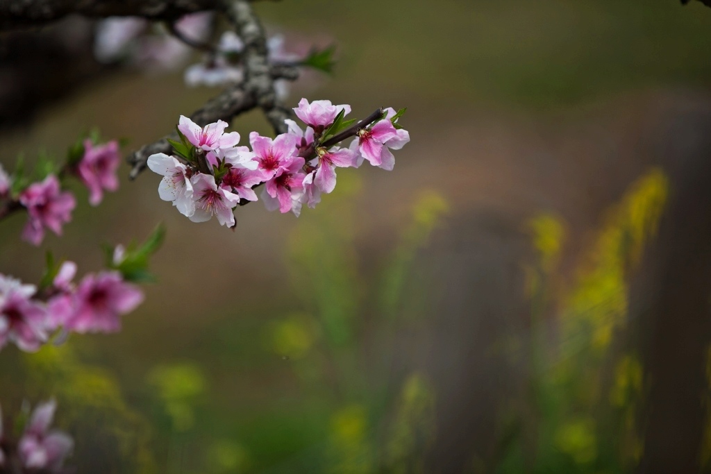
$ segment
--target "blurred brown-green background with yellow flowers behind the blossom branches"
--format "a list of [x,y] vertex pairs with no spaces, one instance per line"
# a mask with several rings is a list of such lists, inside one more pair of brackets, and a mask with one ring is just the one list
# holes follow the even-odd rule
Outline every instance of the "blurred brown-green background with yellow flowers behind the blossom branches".
[[[338,171],[301,217],[193,224],[143,173],[0,271],[164,222],[159,283],[112,335],[0,355],[0,402],[58,400],[78,473],[711,470],[711,9],[676,0],[284,0],[338,45],[301,97],[408,107],[392,172]],[[64,38],[54,41],[53,38]],[[92,23],[4,38],[0,161],[97,126],[127,153],[217,88],[99,65]],[[23,49],[33,53],[22,53]],[[195,59],[199,55],[196,53]],[[260,112],[232,130],[270,133]],[[244,141],[244,140],[243,140]]]

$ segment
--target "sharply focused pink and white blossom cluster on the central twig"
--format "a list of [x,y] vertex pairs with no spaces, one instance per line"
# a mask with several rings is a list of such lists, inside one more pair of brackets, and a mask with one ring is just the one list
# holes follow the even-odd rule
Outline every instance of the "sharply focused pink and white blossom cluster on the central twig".
[[[233,209],[257,200],[255,188],[264,184],[260,197],[268,210],[298,216],[302,205],[313,208],[321,193],[333,191],[336,168],[357,168],[368,160],[392,170],[390,149],[410,141],[410,134],[397,124],[405,109],[381,110],[367,123],[343,120],[351,106],[328,100],[301,99],[294,112],[306,129],[287,120],[287,133],[274,139],[252,131],[251,149],[237,146],[240,134],[225,133],[226,122],[201,127],[181,116],[181,142],[171,140],[174,154],[148,158],[149,168],[164,177],[158,188],[161,199],[171,201],[193,222],[217,217],[220,225],[233,227]],[[338,146],[353,136],[351,146]]]

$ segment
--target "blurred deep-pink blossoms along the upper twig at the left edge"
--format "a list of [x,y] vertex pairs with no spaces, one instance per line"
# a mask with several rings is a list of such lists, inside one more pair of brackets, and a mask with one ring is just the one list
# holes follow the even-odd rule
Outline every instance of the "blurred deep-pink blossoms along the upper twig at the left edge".
[[[75,175],[87,187],[91,205],[101,203],[104,191],[118,189],[117,169],[121,156],[117,141],[97,145],[86,139],[70,149],[68,161],[64,171]],[[63,171],[45,170],[42,174],[40,179],[31,182],[18,171],[10,176],[0,166],[0,203],[5,203],[5,210],[27,210],[28,220],[22,237],[34,245],[42,243],[46,229],[61,235],[62,226],[72,219],[76,207],[74,195],[62,190]]]

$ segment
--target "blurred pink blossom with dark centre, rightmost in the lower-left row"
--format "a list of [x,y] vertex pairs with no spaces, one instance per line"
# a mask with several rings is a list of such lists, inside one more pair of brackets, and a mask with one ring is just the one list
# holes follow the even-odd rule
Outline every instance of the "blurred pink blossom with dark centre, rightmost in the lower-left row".
[[77,287],[75,312],[65,328],[77,333],[112,333],[121,328],[119,316],[134,311],[143,292],[126,283],[118,271],[88,274]]

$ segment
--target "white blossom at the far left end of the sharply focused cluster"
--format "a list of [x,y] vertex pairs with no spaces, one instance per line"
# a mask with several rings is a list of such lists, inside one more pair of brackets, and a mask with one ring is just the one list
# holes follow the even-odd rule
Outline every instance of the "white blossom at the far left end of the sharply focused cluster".
[[195,212],[193,184],[190,171],[173,156],[155,153],[148,157],[148,167],[163,176],[158,185],[158,194],[164,201],[171,201],[182,215],[190,217]]

